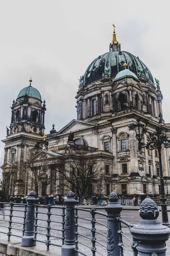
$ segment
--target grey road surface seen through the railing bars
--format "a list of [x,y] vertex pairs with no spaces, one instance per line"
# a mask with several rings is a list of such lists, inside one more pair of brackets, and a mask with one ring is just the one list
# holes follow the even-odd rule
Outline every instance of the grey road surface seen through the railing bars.
[[[6,207],[6,209],[4,210],[6,215],[9,215],[9,208]],[[79,232],[79,236],[78,236],[78,240],[79,240],[79,249],[85,252],[89,251],[89,255],[90,254],[90,249],[88,249],[87,247],[85,247],[83,244],[87,244],[89,247],[91,247],[91,214],[90,214],[90,209],[86,209],[86,211],[82,211],[82,210],[78,210],[78,232]],[[105,209],[98,209],[96,208],[96,210],[98,212],[105,212]],[[45,242],[46,240],[46,227],[47,227],[47,208],[42,208],[39,207],[39,213],[38,213],[38,234],[37,234],[37,239],[38,240],[42,240]],[[56,209],[56,208],[52,208],[51,209],[51,237],[50,240],[52,243],[55,244],[62,244],[62,216],[60,216],[62,214],[62,209]],[[13,223],[12,223],[12,230],[11,232],[15,235],[19,235],[22,236],[22,229],[23,229],[23,212],[22,212],[22,208],[21,207],[14,207],[14,211],[13,211],[13,215],[14,217],[12,218]],[[121,217],[128,221],[130,224],[137,224],[140,221],[140,216],[139,216],[139,212],[135,211],[135,210],[122,210],[121,212]],[[170,219],[170,212],[168,212],[168,217]],[[96,243],[96,248],[97,250],[100,251],[100,253],[103,253],[103,255],[107,255],[106,253],[106,249],[105,247],[102,247],[101,244],[103,244],[104,246],[107,245],[107,218],[103,215],[100,214],[96,214],[95,215],[96,218],[96,241],[99,242]],[[5,221],[2,219],[2,216],[0,216],[0,232],[8,232],[8,220],[9,217],[6,216]],[[159,220],[161,221],[161,212],[159,212]],[[6,228],[5,228],[6,227]],[[15,229],[14,229],[15,228]],[[125,226],[124,224],[122,224],[122,231],[123,233],[128,236],[129,239],[131,239],[131,235],[129,232],[129,227]],[[131,247],[130,247],[130,242],[127,239],[123,239],[124,245],[128,248],[128,250],[131,251]],[[167,246],[169,246],[170,243],[167,241]],[[97,255],[97,254],[96,254]],[[126,255],[126,254],[125,254]]]

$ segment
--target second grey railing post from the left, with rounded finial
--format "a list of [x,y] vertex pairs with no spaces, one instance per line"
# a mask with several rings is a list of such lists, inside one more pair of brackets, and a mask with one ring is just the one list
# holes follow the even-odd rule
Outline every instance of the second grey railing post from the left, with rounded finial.
[[65,241],[61,247],[62,256],[78,256],[75,251],[75,214],[74,209],[77,201],[74,199],[72,191],[68,192],[67,199],[64,201],[66,204],[65,215]]

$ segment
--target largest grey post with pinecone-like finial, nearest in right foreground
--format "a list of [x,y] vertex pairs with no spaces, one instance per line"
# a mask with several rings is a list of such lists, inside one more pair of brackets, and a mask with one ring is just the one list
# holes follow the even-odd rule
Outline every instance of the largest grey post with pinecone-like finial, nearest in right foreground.
[[156,203],[145,198],[140,205],[139,224],[130,228],[133,240],[137,241],[138,256],[166,256],[166,243],[170,228],[157,219],[159,210]]

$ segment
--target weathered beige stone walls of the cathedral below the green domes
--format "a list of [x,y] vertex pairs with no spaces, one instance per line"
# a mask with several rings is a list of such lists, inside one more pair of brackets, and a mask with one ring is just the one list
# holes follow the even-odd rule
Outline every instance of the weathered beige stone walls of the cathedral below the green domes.
[[[12,105],[10,133],[3,140],[6,144],[3,169],[8,170],[11,163],[20,165],[26,161],[27,152],[35,148],[38,142],[42,146],[37,149],[40,154],[45,154],[45,164],[48,165],[47,176],[53,177],[53,181],[45,188],[46,194],[65,194],[64,190],[57,187],[57,169],[54,172],[51,159],[66,155],[69,157],[71,150],[75,154],[76,150],[82,150],[88,152],[88,155],[103,166],[101,193],[109,194],[114,191],[124,195],[159,195],[158,152],[155,149],[151,151],[139,148],[133,124],[136,123],[136,119],[140,119],[145,125],[144,143],[150,141],[158,125],[169,138],[170,124],[164,123],[162,118],[163,96],[160,87],[154,86],[149,70],[146,70],[146,67],[143,70],[147,72],[146,76],[143,71],[138,73],[138,77],[134,73],[130,75],[128,71],[127,76],[121,78],[120,71],[119,76],[116,75],[115,78],[108,72],[107,76],[104,73],[100,79],[96,78],[89,83],[85,83],[84,76],[81,77],[76,96],[77,120],[72,120],[60,131],[53,127],[45,138],[46,147],[42,140],[45,128],[44,117],[42,118],[45,113],[45,102],[42,106],[40,100],[32,97],[17,99]],[[150,76],[150,80],[147,76]],[[25,116],[23,109],[26,111]],[[35,110],[37,119],[33,121],[32,113]],[[74,133],[74,140],[69,148],[68,136],[71,132]],[[162,148],[163,176],[167,194],[170,193],[169,163],[170,150]],[[14,183],[14,180],[11,182]],[[10,188],[9,193],[22,194],[23,184],[24,177],[17,167],[16,184]],[[28,181],[27,189],[34,189],[31,186]],[[96,185],[92,185],[92,193],[94,186]],[[39,194],[42,194],[41,188]]]

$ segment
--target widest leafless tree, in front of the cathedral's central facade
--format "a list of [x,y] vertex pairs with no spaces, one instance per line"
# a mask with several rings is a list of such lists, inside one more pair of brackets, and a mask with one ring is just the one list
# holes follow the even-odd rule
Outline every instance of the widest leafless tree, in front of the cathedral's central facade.
[[73,190],[78,196],[102,191],[104,167],[93,154],[81,151],[54,160],[54,164],[60,189]]

